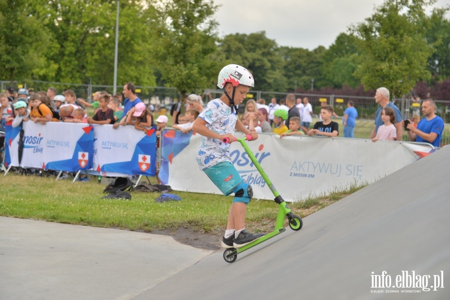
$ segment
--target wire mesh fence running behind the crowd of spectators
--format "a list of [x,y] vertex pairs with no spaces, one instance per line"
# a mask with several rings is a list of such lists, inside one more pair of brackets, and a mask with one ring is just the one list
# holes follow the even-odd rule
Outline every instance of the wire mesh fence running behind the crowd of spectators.
[[[6,87],[10,86],[9,82],[0,81],[1,91],[4,92]],[[22,88],[23,85],[19,85],[14,82],[13,87],[15,90]],[[58,94],[62,94],[63,91],[71,89],[75,92],[77,97],[83,98],[86,101],[92,101],[92,95],[96,91],[106,91],[110,94],[113,93],[113,86],[102,86],[102,85],[92,85],[92,84],[70,84],[70,83],[56,83],[56,82],[46,82],[46,81],[33,81],[31,85],[25,88],[33,88],[34,92],[37,91],[47,91],[49,87],[54,87]],[[117,87],[117,93],[121,93],[122,86]],[[222,91],[218,89],[205,90],[201,95],[203,102],[207,103],[211,99],[215,99],[221,96]],[[146,104],[153,104],[154,106],[161,108],[162,112],[170,110],[170,105],[173,102],[177,102],[182,97],[175,88],[165,88],[165,87],[144,87],[136,86],[136,94],[139,95],[140,99]],[[267,92],[267,91],[250,91],[247,94],[247,99],[265,99],[265,103],[269,104],[272,98],[277,100],[277,103],[281,99],[285,99],[288,93],[282,92]],[[342,116],[345,108],[347,107],[348,101],[353,101],[354,107],[358,111],[359,120],[374,120],[375,113],[378,109],[378,104],[375,103],[373,97],[363,97],[363,96],[346,96],[346,95],[327,95],[327,94],[303,94],[294,93],[296,98],[307,97],[309,103],[312,106],[313,114],[318,116],[320,114],[320,107],[323,104],[329,104],[333,106],[334,112],[338,116]],[[409,98],[397,98],[392,101],[401,111],[403,119],[410,119],[414,114],[420,115],[420,102],[416,102]],[[450,101],[445,100],[434,100],[436,103],[436,115],[440,116],[444,123],[446,120],[450,120]],[[243,112],[245,102],[239,106],[239,112]],[[370,133],[368,133],[369,135]],[[368,137],[367,135],[367,137]],[[450,124],[447,124],[444,128],[444,133],[441,139],[441,146],[450,144]]]

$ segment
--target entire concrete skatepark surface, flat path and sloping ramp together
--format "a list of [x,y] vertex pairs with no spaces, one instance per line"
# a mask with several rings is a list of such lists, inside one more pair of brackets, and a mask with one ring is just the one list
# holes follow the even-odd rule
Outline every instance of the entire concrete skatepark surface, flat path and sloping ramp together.
[[449,179],[447,146],[233,263],[168,236],[0,217],[0,298],[448,299]]

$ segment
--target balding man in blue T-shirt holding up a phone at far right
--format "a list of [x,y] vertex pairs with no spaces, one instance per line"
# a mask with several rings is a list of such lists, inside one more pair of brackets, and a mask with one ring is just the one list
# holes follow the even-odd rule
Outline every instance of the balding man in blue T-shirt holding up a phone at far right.
[[[433,100],[426,99],[422,103],[422,113],[425,118],[417,124],[417,128],[409,121],[407,131],[409,140],[422,143],[430,143],[434,147],[439,147],[443,133],[443,120],[436,116],[434,110],[436,105]],[[402,122],[404,124],[404,122]]]

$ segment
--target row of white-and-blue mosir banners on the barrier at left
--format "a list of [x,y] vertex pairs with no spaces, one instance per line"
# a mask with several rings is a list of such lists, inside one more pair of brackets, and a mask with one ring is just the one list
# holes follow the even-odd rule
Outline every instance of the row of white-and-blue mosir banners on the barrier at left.
[[57,171],[88,170],[103,176],[145,175],[156,172],[156,135],[134,126],[79,123],[23,122],[23,148],[19,164],[20,128],[8,127],[5,165]]

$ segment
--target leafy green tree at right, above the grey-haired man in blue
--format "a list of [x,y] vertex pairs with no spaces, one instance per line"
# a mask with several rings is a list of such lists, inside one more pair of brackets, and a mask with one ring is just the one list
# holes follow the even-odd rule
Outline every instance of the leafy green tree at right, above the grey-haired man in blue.
[[427,58],[432,47],[425,40],[424,9],[433,3],[435,0],[387,0],[372,17],[351,28],[359,38],[355,77],[364,89],[384,86],[399,97],[430,77]]

